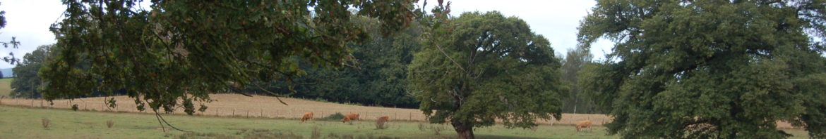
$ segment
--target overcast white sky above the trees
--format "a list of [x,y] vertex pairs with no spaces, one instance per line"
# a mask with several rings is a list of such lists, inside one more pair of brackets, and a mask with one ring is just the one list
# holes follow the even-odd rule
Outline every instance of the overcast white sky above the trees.
[[[577,26],[579,21],[594,7],[593,0],[448,0],[453,16],[462,12],[499,11],[506,16],[517,16],[525,20],[534,32],[544,35],[551,41],[557,53],[577,45]],[[434,5],[435,0],[429,0]],[[16,36],[21,42],[18,49],[0,48],[0,56],[14,53],[17,58],[30,53],[37,46],[54,44],[55,35],[49,26],[57,21],[66,7],[59,0],[4,0],[0,1],[0,10],[6,12],[6,28],[0,29],[0,41],[7,42]],[[595,58],[602,58],[604,52],[610,52],[610,41],[601,40],[591,48]],[[13,67],[0,63],[0,68]]]

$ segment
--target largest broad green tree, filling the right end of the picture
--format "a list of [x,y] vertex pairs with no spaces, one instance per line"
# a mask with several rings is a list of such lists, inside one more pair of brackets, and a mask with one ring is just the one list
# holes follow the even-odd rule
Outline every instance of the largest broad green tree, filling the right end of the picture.
[[[580,80],[624,138],[826,137],[826,1],[599,1],[579,41],[614,52]],[[820,99],[820,100],[817,100]]]

